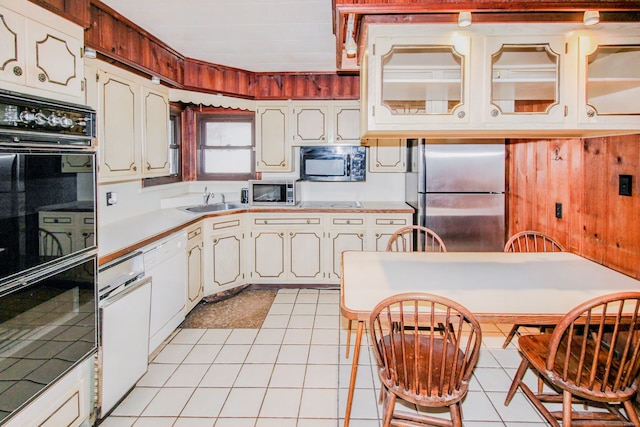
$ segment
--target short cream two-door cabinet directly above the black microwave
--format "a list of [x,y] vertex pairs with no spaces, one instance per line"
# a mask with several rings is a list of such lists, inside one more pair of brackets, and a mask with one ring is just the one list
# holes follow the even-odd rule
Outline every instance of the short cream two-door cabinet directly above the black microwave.
[[292,138],[295,145],[360,145],[358,103],[326,101],[297,102],[291,108]]

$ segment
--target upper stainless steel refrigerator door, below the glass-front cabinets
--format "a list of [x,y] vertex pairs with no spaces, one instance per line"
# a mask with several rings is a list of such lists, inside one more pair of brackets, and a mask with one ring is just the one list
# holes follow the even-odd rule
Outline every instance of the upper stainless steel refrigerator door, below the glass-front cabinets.
[[[505,148],[499,144],[425,144],[427,193],[503,193]],[[418,190],[420,191],[420,190]]]

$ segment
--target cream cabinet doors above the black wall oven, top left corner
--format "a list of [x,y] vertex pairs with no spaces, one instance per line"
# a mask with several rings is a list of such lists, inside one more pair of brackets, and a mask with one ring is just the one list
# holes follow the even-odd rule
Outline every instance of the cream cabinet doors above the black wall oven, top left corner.
[[80,103],[83,29],[24,0],[0,2],[4,89]]

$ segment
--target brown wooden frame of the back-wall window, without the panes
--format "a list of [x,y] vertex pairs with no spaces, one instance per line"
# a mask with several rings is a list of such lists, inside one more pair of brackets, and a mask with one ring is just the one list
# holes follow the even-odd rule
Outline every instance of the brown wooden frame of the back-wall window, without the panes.
[[[251,124],[251,145],[235,146],[235,147],[211,147],[204,144],[206,137],[206,124],[211,122],[243,122]],[[198,181],[247,181],[256,179],[255,157],[256,157],[256,126],[255,114],[251,112],[238,113],[213,113],[202,112],[196,117],[196,179]],[[204,172],[204,154],[205,150],[247,150],[250,151],[250,167],[249,173],[206,173]]]

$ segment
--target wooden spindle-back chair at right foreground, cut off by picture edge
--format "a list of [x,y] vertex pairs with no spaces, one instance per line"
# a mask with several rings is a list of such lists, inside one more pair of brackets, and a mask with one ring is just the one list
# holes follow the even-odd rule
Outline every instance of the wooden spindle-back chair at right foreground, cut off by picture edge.
[[[604,295],[572,309],[553,333],[520,337],[522,362],[505,405],[519,387],[552,426],[569,427],[574,420],[580,426],[640,426],[632,403],[640,371],[639,314],[640,292]],[[531,391],[523,382],[529,368],[552,391]],[[572,408],[576,402],[584,408]],[[562,403],[562,411],[546,403]]]

